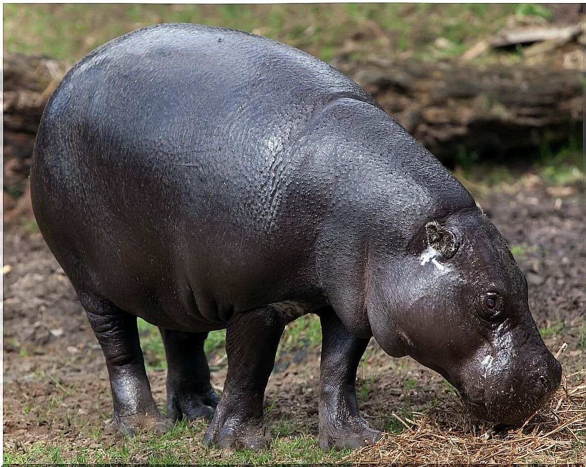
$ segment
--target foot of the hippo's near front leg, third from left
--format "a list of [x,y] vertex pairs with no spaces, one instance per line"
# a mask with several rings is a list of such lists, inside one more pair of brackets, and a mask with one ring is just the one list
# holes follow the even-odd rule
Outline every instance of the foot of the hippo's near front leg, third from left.
[[203,436],[207,446],[223,449],[268,449],[270,436],[265,434],[261,424],[243,424],[240,421],[225,422],[222,427],[212,422]]

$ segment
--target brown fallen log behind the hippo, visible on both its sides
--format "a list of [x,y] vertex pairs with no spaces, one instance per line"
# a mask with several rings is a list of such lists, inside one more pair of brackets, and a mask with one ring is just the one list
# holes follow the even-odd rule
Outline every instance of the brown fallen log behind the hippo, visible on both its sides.
[[[563,143],[582,131],[578,70],[413,60],[335,65],[448,166],[462,154],[534,156],[544,140]],[[5,187],[24,191],[40,116],[68,68],[46,57],[5,54]]]

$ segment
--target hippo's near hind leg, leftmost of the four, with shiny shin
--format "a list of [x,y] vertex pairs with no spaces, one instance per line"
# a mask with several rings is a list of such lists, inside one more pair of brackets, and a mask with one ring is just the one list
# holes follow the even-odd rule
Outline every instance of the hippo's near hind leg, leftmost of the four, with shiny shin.
[[144,429],[166,431],[171,423],[162,417],[152,398],[136,316],[96,294],[78,291],[78,295],[106,360],[115,428],[129,436]]

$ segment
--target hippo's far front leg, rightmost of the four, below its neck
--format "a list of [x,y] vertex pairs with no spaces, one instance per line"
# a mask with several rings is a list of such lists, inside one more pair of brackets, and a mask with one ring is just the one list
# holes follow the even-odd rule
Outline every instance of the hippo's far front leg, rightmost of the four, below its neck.
[[360,417],[356,400],[356,370],[369,339],[350,334],[332,309],[321,310],[319,319],[322,325],[319,446],[357,449],[374,444],[381,433]]

